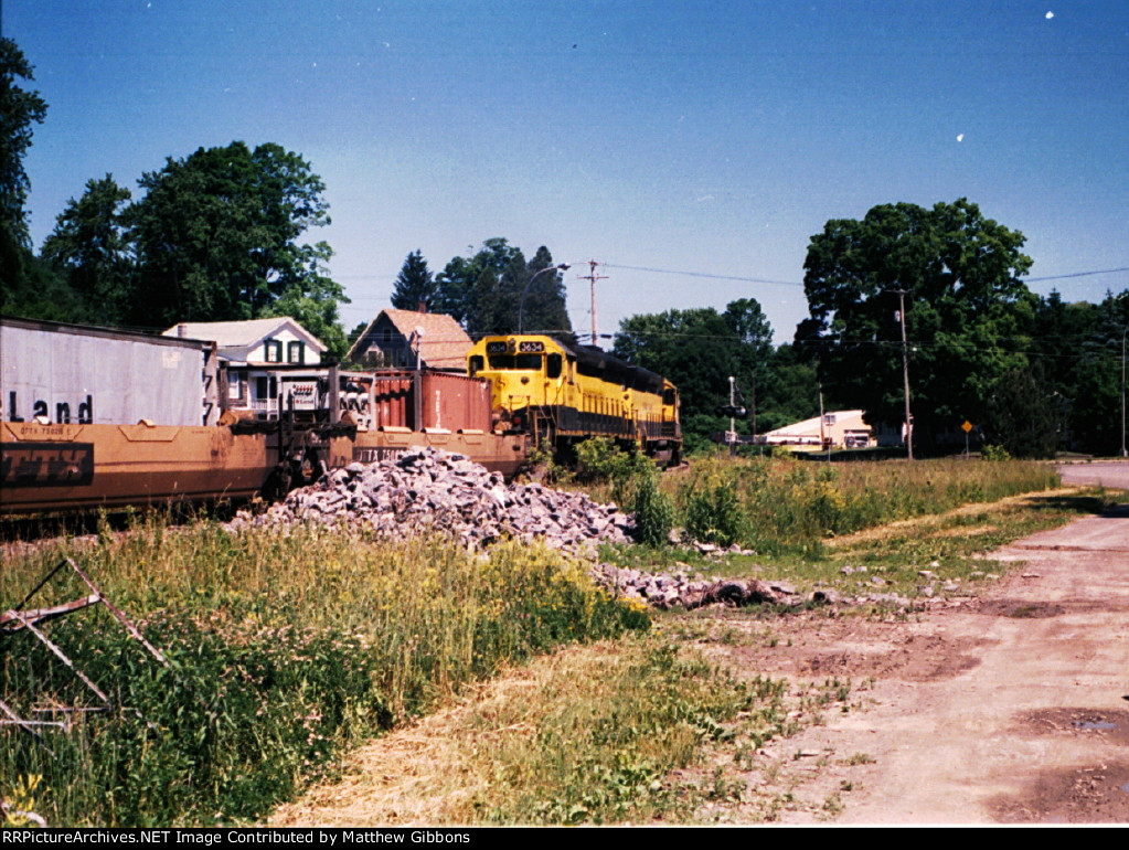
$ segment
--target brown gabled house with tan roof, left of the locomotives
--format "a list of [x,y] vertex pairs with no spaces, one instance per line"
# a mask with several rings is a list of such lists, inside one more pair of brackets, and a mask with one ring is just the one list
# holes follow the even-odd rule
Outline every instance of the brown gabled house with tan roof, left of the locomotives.
[[474,343],[460,324],[441,313],[383,309],[347,356],[374,368],[421,367],[466,371],[466,353]]

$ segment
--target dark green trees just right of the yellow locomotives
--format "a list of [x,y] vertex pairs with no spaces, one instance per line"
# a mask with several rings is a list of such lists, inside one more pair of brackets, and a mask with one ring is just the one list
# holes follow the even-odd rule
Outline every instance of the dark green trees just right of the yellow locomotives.
[[729,376],[746,403],[753,387],[769,383],[772,328],[752,298],[712,307],[644,314],[624,318],[614,353],[669,378],[679,387],[688,439],[700,441],[728,427],[716,414],[729,398]]

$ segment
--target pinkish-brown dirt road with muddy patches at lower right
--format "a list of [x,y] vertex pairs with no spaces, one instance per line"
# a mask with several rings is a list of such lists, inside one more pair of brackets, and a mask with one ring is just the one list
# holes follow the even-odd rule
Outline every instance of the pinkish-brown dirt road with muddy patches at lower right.
[[746,650],[769,675],[850,678],[861,701],[773,744],[812,764],[808,805],[781,821],[1129,823],[1129,507],[994,557],[1025,564],[977,601]]

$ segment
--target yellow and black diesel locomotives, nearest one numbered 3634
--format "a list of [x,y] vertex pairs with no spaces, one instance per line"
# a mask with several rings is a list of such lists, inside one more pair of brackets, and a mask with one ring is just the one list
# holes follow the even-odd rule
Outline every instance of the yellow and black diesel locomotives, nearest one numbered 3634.
[[490,380],[498,431],[527,433],[557,455],[609,437],[667,466],[681,461],[677,388],[602,349],[542,334],[485,336],[467,368]]

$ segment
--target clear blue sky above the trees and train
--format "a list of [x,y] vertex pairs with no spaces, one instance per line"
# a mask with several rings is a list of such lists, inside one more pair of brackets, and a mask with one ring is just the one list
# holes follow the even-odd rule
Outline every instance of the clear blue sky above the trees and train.
[[1129,266],[1123,0],[7,0],[2,27],[49,104],[36,246],[90,178],[277,142],[325,181],[347,328],[409,252],[502,236],[577,264],[578,330],[594,258],[602,333],[752,297],[782,342],[811,236],[898,201],[969,198],[1032,278]]

